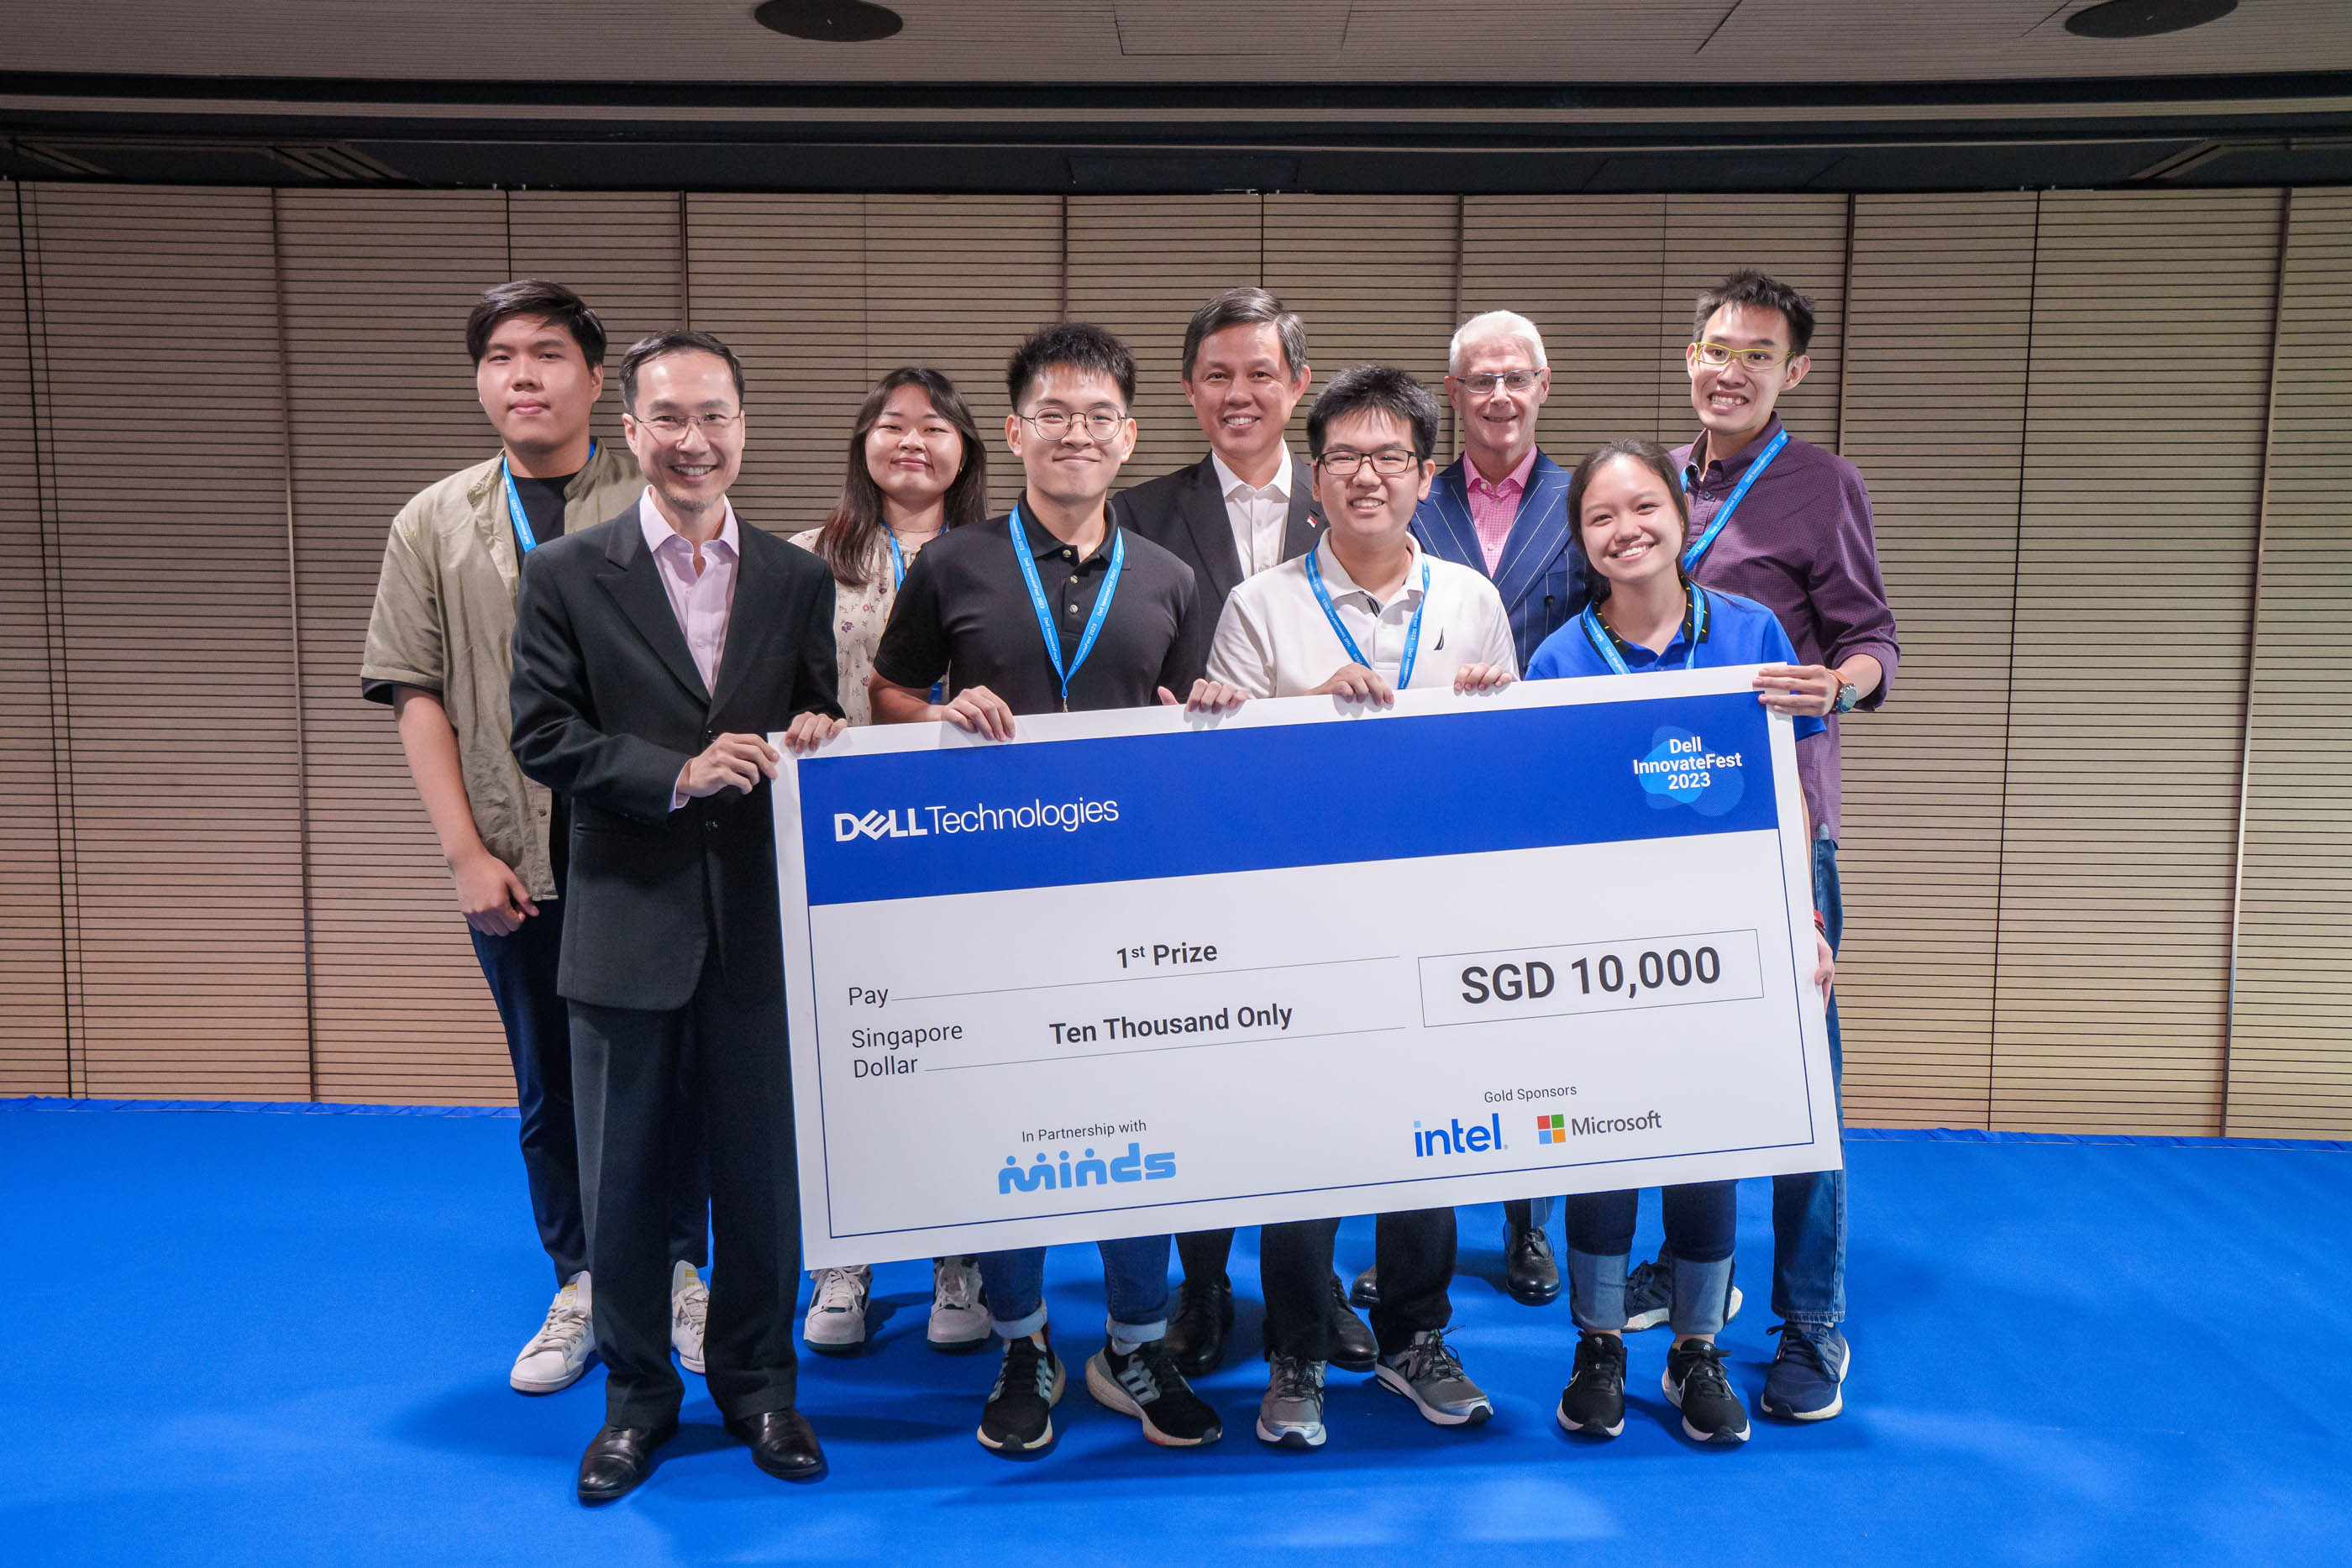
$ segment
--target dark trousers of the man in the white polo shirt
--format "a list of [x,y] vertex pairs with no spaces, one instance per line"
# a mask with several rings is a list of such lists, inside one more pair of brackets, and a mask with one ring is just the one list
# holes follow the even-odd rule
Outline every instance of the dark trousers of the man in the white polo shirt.
[[[1334,1340],[1331,1246],[1338,1220],[1291,1220],[1258,1227],[1258,1281],[1265,1291],[1265,1352],[1329,1361]],[[1411,1208],[1374,1220],[1371,1262],[1381,1272],[1381,1305],[1371,1333],[1381,1354],[1395,1354],[1423,1328],[1454,1316],[1454,1211]]]

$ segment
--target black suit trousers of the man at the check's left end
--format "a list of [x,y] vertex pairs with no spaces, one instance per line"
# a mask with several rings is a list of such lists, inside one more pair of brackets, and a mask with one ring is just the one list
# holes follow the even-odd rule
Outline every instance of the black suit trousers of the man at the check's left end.
[[670,1366],[670,1276],[661,1260],[670,1222],[663,1171],[680,1098],[701,1105],[710,1159],[710,1401],[727,1420],[790,1410],[800,1175],[783,992],[731,987],[710,961],[677,1011],[574,1001],[572,1074],[595,1342],[607,1366],[604,1420],[659,1427],[677,1418],[684,1394]]

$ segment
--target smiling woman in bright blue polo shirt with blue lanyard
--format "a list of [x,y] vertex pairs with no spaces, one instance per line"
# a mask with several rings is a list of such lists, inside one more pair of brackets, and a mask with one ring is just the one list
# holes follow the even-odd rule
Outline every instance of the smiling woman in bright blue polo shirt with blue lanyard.
[[[1592,607],[1543,639],[1526,679],[1797,663],[1769,609],[1691,583],[1684,571],[1691,512],[1665,447],[1628,440],[1597,449],[1569,480],[1569,545],[1583,555]],[[1790,701],[1757,684],[1766,708]],[[1816,717],[1797,715],[1795,724],[1799,741],[1823,733]],[[1813,980],[1830,983],[1828,943],[1820,943]],[[1748,1439],[1748,1410],[1715,1347],[1731,1309],[1736,1194],[1736,1182],[1689,1182],[1661,1194],[1675,1255],[1668,1319],[1675,1347],[1661,1382],[1682,1408],[1682,1429],[1698,1443]],[[1569,1432],[1616,1436],[1625,1429],[1625,1262],[1637,1201],[1637,1192],[1569,1199],[1569,1305],[1578,1328],[1576,1368],[1559,1394],[1559,1425]]]

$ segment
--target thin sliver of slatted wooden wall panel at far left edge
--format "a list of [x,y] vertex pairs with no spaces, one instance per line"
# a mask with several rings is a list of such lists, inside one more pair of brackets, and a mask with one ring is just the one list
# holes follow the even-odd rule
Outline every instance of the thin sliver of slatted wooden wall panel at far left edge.
[[0,186],[0,1095],[71,1093],[66,865],[49,658],[47,494],[26,322],[21,186]]

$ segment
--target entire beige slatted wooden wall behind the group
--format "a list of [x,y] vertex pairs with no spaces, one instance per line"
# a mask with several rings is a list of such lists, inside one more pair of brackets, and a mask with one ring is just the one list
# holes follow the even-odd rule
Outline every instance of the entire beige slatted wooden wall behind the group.
[[[0,371],[42,435],[0,411],[0,531],[38,555],[47,520],[52,557],[0,588],[0,1091],[301,1095],[315,1048],[327,1098],[506,1098],[390,717],[355,693],[393,510],[492,444],[459,339],[489,282],[574,282],[616,353],[682,315],[729,339],[739,503],[797,531],[837,491],[858,395],[910,357],[964,386],[1002,505],[1002,357],[1063,306],[1138,350],[1129,482],[1195,461],[1183,320],[1249,280],[1308,315],[1319,378],[1378,357],[1435,386],[1456,320],[1503,306],[1552,350],[1555,456],[1682,440],[1689,296],[1752,261],[1820,303],[1788,421],[1842,430],[1870,477],[1905,635],[1896,701],[1846,743],[1849,1114],[2220,1126],[2277,193],[1863,197],[1851,299],[1842,197],[24,197]],[[2352,1081],[2328,990],[2352,856],[2307,766],[2314,736],[2347,745],[2324,397],[2352,214],[2303,202],[2237,933],[2246,1133],[2340,1131]],[[127,355],[158,388],[132,444],[108,440]],[[191,534],[200,555],[167,548]],[[132,778],[125,748],[181,762]]]

